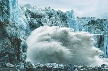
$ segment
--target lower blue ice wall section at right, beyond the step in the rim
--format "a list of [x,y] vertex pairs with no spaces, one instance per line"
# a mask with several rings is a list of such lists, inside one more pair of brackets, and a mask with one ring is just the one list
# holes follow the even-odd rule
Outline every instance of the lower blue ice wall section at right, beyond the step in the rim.
[[77,31],[86,31],[91,34],[95,34],[95,40],[97,42],[95,46],[104,51],[104,57],[107,57],[108,20],[95,17],[77,17],[76,20],[78,27]]

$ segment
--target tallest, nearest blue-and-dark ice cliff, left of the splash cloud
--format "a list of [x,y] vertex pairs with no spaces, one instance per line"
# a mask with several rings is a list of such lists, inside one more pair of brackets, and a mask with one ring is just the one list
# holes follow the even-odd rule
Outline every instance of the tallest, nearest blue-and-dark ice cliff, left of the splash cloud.
[[28,33],[29,27],[17,0],[0,0],[1,62],[15,64],[25,60],[22,59],[22,47],[26,46],[25,40]]

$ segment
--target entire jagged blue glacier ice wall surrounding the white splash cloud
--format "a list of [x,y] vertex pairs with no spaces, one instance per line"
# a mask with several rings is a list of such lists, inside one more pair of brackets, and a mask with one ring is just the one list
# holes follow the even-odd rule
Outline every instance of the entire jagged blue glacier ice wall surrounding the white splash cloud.
[[73,10],[62,12],[50,7],[40,9],[29,4],[19,7],[17,0],[0,0],[1,59],[13,64],[24,62],[26,39],[40,26],[69,27],[75,32],[86,31],[95,34],[95,47],[104,51],[104,57],[107,57],[108,20],[95,17],[79,18],[74,17],[73,13]]

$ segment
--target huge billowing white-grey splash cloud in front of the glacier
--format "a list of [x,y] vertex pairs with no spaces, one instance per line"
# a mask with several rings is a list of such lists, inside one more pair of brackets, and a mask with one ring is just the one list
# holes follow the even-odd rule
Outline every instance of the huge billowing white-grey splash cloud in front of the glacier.
[[27,60],[32,63],[62,63],[99,66],[103,52],[94,47],[93,35],[72,32],[70,28],[43,26],[35,29],[27,39]]

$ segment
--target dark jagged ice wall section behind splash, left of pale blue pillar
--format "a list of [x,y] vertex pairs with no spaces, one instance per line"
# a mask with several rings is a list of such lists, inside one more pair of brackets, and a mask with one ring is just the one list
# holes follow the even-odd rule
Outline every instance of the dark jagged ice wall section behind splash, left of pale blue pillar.
[[21,8],[30,25],[30,29],[34,30],[40,26],[61,26],[68,27],[67,13],[60,10],[56,11],[50,7],[40,9],[26,4]]

